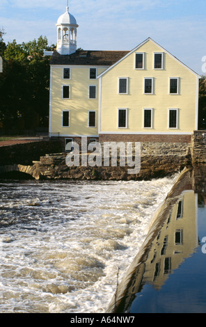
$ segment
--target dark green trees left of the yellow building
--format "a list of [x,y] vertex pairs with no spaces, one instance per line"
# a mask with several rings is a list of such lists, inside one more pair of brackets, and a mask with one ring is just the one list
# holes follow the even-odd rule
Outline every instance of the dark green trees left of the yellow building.
[[49,57],[43,51],[53,49],[54,45],[49,47],[42,35],[22,44],[13,40],[4,48],[0,74],[1,133],[24,134],[37,127],[48,127]]

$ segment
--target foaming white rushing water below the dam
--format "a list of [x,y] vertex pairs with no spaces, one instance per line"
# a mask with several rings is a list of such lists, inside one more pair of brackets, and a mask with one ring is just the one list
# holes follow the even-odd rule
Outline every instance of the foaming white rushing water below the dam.
[[0,312],[105,312],[173,182],[0,183]]

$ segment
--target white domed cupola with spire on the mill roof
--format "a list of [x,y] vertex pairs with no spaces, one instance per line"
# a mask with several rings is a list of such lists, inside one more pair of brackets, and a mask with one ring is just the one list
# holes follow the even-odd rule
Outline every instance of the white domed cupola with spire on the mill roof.
[[69,7],[63,15],[58,18],[57,26],[57,46],[59,54],[73,54],[77,50],[77,21],[69,13]]

